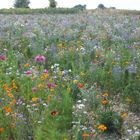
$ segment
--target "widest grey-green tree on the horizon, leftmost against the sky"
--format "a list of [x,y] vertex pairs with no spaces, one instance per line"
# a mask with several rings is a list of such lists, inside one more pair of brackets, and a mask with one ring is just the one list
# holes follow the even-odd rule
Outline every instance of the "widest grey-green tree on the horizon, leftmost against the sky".
[[15,0],[15,8],[29,8],[30,0]]

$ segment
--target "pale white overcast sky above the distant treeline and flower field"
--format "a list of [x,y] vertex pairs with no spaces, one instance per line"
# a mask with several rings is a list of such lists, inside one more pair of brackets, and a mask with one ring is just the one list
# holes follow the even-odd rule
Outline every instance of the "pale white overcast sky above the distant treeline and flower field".
[[[15,0],[0,0],[0,8],[13,7]],[[56,0],[58,7],[73,7],[77,4],[86,4],[88,9],[94,9],[102,3],[106,7],[116,7],[118,9],[140,10],[140,0]],[[31,8],[48,7],[48,0],[30,0]]]

